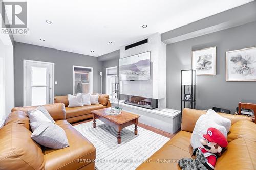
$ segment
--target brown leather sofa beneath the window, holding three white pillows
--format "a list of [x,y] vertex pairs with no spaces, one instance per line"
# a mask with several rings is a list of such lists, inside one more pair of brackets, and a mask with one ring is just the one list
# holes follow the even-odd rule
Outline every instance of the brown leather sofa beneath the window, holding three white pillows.
[[99,94],[99,104],[96,104],[96,105],[87,105],[87,106],[81,106],[81,107],[68,107],[69,101],[68,101],[67,95],[55,96],[54,103],[63,103],[65,105],[66,120],[69,123],[92,118],[93,110],[111,107],[111,104],[109,102],[109,95],[106,95],[106,94]]

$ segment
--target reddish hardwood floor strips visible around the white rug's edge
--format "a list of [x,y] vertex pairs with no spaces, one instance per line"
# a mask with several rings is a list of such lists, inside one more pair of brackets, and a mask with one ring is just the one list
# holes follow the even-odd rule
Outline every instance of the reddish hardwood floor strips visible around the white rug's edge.
[[[71,125],[74,126],[74,125],[78,125],[78,124],[82,124],[82,123],[86,123],[86,122],[90,122],[90,121],[93,121],[93,119],[87,119],[87,120],[82,120],[80,122],[75,122],[75,123],[72,123]],[[145,125],[145,124],[142,124],[142,123],[139,123],[138,126],[140,126],[141,128],[144,128],[144,129],[147,129],[147,130],[150,130],[152,132],[155,132],[157,134],[160,134],[160,135],[163,135],[165,137],[168,137],[168,138],[173,138],[180,130],[178,130],[177,132],[175,132],[174,134],[170,134],[168,132],[165,132],[165,131],[162,131],[160,129],[157,129],[157,128],[154,128],[152,126],[148,126],[148,125]]]

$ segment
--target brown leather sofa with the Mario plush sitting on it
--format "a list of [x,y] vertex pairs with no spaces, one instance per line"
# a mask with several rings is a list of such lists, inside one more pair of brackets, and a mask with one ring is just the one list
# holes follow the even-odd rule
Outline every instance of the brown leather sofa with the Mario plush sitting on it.
[[[190,137],[197,119],[205,113],[205,111],[184,109],[181,131],[137,170],[180,169],[177,162],[181,158],[191,157],[193,149],[190,145]],[[227,137],[228,146],[218,158],[214,169],[256,169],[256,124],[246,116],[219,114],[230,119],[232,125]]]

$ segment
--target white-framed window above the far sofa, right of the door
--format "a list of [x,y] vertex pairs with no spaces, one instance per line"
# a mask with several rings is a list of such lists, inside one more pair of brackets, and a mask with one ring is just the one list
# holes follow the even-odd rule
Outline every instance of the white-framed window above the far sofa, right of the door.
[[73,94],[93,92],[93,68],[73,66]]

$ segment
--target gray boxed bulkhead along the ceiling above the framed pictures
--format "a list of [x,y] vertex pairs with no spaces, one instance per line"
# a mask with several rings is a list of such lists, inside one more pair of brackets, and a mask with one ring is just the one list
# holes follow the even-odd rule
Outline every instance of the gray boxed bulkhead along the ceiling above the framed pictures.
[[162,41],[175,43],[256,21],[256,1],[211,15],[162,33]]

